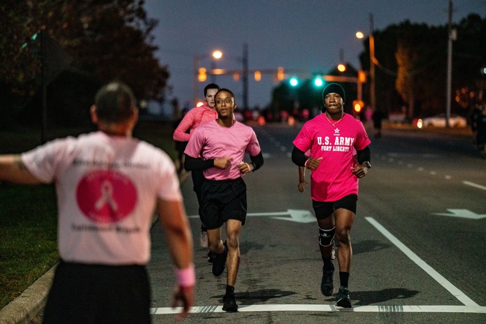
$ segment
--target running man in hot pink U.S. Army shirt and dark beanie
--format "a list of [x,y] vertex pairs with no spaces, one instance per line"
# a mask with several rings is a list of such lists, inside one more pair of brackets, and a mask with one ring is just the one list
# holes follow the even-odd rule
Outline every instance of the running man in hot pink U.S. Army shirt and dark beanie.
[[[307,121],[294,140],[292,161],[311,170],[312,207],[319,226],[319,247],[324,266],[321,292],[334,292],[331,252],[338,240],[337,258],[341,286],[336,306],[351,307],[348,280],[351,264],[350,232],[356,214],[358,179],[370,165],[371,143],[363,123],[344,113],[345,93],[332,83],[322,93],[326,112]],[[357,161],[353,148],[356,149]],[[311,150],[311,156],[305,155]]]

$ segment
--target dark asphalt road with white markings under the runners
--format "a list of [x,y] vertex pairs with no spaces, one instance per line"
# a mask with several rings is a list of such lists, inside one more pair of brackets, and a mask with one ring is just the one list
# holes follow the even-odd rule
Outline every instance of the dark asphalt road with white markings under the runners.
[[[191,218],[197,286],[185,323],[485,323],[486,161],[471,138],[398,130],[371,138],[372,169],[360,180],[351,232],[353,307],[343,309],[319,290],[310,188],[297,190],[290,159],[299,129],[255,128],[265,164],[244,176],[237,313],[221,309],[226,273],[212,275],[200,221]],[[181,187],[188,215],[197,215],[191,177]],[[152,319],[168,323],[174,274],[160,224],[152,235]]]

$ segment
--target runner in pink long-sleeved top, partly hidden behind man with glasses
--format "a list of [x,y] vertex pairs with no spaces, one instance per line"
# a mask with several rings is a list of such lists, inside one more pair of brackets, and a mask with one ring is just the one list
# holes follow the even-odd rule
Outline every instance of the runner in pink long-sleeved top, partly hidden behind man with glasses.
[[[204,87],[204,98],[206,99],[206,104],[199,107],[192,108],[186,116],[181,120],[179,125],[174,131],[174,140],[179,142],[188,142],[191,139],[192,133],[199,125],[205,124],[209,121],[216,120],[218,118],[218,113],[214,108],[214,95],[220,89],[219,85],[211,83]],[[186,131],[189,129],[189,134]],[[193,190],[197,196],[197,202],[199,203],[199,218],[201,219],[201,237],[200,243],[201,247],[208,247],[208,233],[206,226],[202,221],[201,216],[201,186],[204,181],[203,172],[199,170],[191,171]],[[208,261],[211,262],[211,255],[208,254]]]

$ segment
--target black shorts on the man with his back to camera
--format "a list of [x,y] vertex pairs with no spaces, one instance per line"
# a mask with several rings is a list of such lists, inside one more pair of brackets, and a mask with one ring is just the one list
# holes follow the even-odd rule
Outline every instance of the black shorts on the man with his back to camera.
[[150,323],[145,267],[60,261],[43,323]]

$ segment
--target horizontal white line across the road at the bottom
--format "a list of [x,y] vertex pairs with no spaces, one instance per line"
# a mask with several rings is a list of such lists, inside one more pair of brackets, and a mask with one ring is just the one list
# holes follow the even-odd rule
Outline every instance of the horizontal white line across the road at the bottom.
[[[150,308],[150,314],[163,315],[163,314],[177,314],[180,313],[182,307],[156,307]],[[322,312],[391,312],[391,313],[484,313],[486,314],[486,307],[477,306],[425,306],[425,305],[412,305],[412,306],[353,306],[351,308],[335,307],[334,305],[239,305],[239,312],[274,312],[274,311],[322,311]],[[191,307],[190,313],[226,313],[222,306],[195,306]]]

